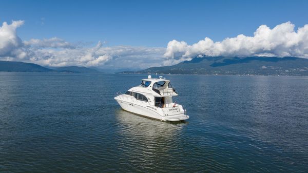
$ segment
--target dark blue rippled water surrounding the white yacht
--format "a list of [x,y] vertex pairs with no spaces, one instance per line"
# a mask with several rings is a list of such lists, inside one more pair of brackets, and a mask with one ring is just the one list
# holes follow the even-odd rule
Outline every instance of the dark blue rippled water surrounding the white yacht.
[[308,78],[167,75],[167,123],[113,99],[146,76],[1,72],[0,172],[308,171]]

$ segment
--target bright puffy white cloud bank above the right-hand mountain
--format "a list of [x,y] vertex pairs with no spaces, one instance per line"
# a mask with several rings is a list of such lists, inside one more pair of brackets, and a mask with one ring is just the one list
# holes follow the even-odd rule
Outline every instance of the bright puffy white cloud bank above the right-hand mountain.
[[170,41],[164,54],[168,59],[190,59],[206,56],[297,56],[308,57],[308,25],[295,31],[295,25],[286,22],[273,29],[261,25],[254,36],[240,34],[214,42],[205,37],[193,45],[184,41]]

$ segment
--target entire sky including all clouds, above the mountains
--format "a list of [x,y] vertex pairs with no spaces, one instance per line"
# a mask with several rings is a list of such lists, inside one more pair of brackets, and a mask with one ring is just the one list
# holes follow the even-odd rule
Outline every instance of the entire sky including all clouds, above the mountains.
[[0,4],[5,61],[147,68],[198,55],[308,58],[308,1]]

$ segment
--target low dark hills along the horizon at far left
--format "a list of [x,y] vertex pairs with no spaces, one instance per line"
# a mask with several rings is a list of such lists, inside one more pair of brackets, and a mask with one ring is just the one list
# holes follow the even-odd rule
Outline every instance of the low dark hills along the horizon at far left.
[[100,71],[88,67],[67,66],[59,68],[43,67],[33,63],[14,61],[0,61],[0,71],[16,72],[69,72],[69,73],[99,73]]

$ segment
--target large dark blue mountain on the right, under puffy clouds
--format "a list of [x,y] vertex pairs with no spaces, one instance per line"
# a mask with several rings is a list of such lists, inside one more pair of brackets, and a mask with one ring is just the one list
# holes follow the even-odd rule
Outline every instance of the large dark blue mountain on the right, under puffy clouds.
[[121,73],[223,74],[223,75],[308,75],[308,59],[300,57],[202,56],[172,66],[151,67]]

